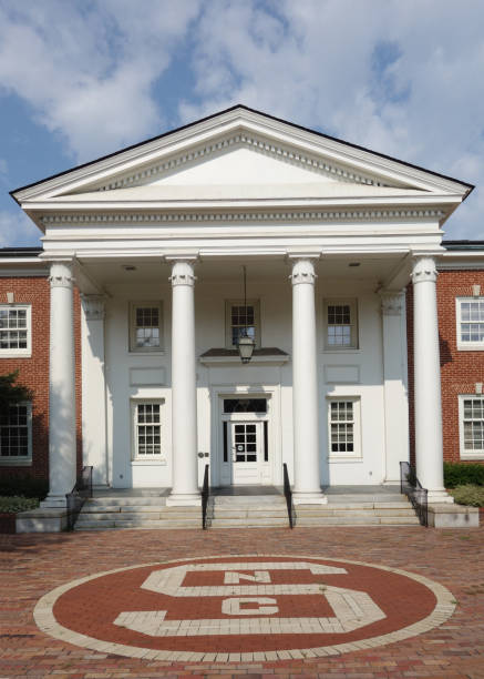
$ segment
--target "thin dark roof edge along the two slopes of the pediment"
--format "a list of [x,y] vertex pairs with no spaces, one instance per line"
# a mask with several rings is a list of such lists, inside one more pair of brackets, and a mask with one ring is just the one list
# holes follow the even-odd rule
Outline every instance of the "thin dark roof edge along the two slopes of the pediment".
[[322,136],[323,139],[330,139],[331,141],[336,141],[339,144],[344,144],[347,146],[350,146],[351,149],[358,149],[359,151],[365,151],[367,153],[372,153],[373,155],[378,155],[380,158],[384,158],[387,160],[391,160],[391,161],[401,163],[402,165],[406,165],[408,168],[414,168],[415,170],[421,170],[422,172],[428,172],[429,174],[433,174],[434,176],[440,176],[442,179],[450,180],[452,182],[457,182],[459,184],[462,184],[462,185],[468,188],[468,192],[467,192],[465,197],[467,197],[467,195],[471,193],[471,191],[473,191],[473,189],[475,188],[474,184],[470,184],[467,182],[462,182],[461,180],[456,180],[456,179],[454,179],[452,176],[449,176],[446,174],[441,174],[439,172],[434,172],[433,170],[426,170],[425,168],[422,168],[420,165],[414,165],[412,163],[408,163],[408,162],[399,160],[397,158],[392,158],[391,155],[385,155],[384,153],[379,153],[378,151],[372,151],[370,149],[365,149],[364,146],[359,146],[358,144],[352,144],[351,142],[347,142],[347,141],[343,141],[341,139],[338,139],[337,136],[331,136],[330,134],[325,134],[323,132],[318,132],[317,130],[311,130],[310,128],[305,128],[303,125],[298,125],[297,123],[292,123],[292,122],[289,122],[287,120],[282,120],[281,118],[276,118],[275,115],[270,115],[269,113],[264,113],[264,111],[258,111],[257,109],[251,109],[251,108],[246,107],[244,104],[235,104],[234,107],[229,107],[228,109],[224,109],[224,111],[218,111],[217,113],[213,113],[212,115],[206,115],[205,118],[200,118],[200,120],[196,120],[196,121],[190,122],[190,123],[188,123],[186,125],[182,125],[181,128],[175,128],[175,130],[169,130],[168,132],[164,132],[163,134],[157,134],[156,136],[152,136],[150,139],[145,139],[142,142],[137,142],[136,144],[132,144],[131,146],[126,146],[125,149],[121,149],[120,151],[115,151],[114,153],[107,153],[107,155],[102,155],[101,158],[96,158],[95,160],[89,161],[87,163],[82,163],[81,165],[75,165],[74,168],[70,168],[69,170],[64,170],[63,172],[58,172],[56,174],[51,174],[50,176],[47,176],[45,179],[39,180],[37,182],[32,182],[31,184],[25,184],[24,186],[20,186],[19,189],[14,189],[13,191],[10,191],[10,195],[18,203],[19,201],[13,195],[18,191],[23,191],[24,189],[30,189],[31,186],[37,186],[37,184],[42,184],[43,182],[48,182],[49,180],[55,179],[56,176],[62,176],[63,174],[69,174],[69,172],[73,172],[74,170],[80,170],[81,168],[89,168],[89,165],[93,165],[94,163],[97,163],[100,161],[106,160],[109,158],[114,158],[115,155],[124,153],[125,151],[131,151],[132,149],[137,149],[138,146],[143,146],[144,144],[148,144],[148,143],[151,143],[153,141],[156,141],[158,139],[163,139],[164,136],[168,136],[169,134],[175,134],[176,132],[181,132],[182,130],[187,130],[187,129],[193,128],[194,125],[203,123],[203,122],[205,122],[207,120],[212,120],[213,118],[217,118],[218,115],[223,115],[224,113],[228,113],[229,111],[235,111],[236,109],[244,109],[245,111],[250,111],[251,113],[257,113],[258,115],[264,115],[265,118],[268,118],[269,120],[275,120],[275,121],[281,122],[281,123],[286,124],[286,125],[291,125],[292,128],[296,128],[297,130],[303,130],[305,132],[310,132],[311,134],[316,134],[318,136]]

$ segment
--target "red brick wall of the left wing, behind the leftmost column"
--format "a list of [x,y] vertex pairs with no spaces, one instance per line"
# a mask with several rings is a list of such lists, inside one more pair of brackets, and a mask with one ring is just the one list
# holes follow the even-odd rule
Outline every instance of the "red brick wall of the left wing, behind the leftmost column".
[[[13,292],[18,304],[32,305],[32,356],[30,358],[1,358],[0,373],[19,371],[18,382],[34,392],[32,402],[32,465],[28,467],[0,466],[6,477],[49,478],[49,317],[50,285],[47,277],[0,277],[0,303],[7,302],[7,292]],[[80,295],[74,290],[75,333],[75,397],[78,467],[82,466],[81,440],[81,316]]]

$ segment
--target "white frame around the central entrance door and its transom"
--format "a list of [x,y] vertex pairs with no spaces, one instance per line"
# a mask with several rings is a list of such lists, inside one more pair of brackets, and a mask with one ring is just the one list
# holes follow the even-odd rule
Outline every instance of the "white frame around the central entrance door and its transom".
[[280,429],[280,386],[228,386],[217,385],[210,388],[210,484],[214,487],[222,485],[222,465],[224,464],[224,430],[223,415],[224,398],[266,398],[267,413],[265,416],[246,415],[255,420],[267,422],[268,436],[268,476],[261,485],[282,485],[282,445]]

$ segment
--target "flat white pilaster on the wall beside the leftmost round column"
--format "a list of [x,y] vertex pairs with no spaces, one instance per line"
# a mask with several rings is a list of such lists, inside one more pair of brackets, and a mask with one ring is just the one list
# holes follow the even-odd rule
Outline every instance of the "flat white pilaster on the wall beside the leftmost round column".
[[93,483],[107,485],[104,297],[82,295],[82,446]]

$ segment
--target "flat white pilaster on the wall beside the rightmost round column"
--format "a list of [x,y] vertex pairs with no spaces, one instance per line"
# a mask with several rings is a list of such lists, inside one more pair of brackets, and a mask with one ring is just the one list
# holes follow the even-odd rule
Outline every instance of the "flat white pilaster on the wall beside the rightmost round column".
[[400,462],[409,460],[409,404],[406,399],[405,294],[381,292],[383,335],[383,397],[385,475],[400,482]]

